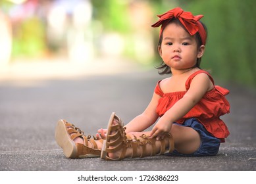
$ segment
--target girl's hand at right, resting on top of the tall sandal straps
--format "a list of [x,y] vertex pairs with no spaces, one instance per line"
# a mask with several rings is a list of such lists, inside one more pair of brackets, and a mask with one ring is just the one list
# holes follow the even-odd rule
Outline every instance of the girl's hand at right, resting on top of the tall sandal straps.
[[170,132],[170,128],[172,124],[170,122],[161,121],[161,119],[155,124],[149,137],[156,137],[157,140],[161,140],[165,138],[166,133]]

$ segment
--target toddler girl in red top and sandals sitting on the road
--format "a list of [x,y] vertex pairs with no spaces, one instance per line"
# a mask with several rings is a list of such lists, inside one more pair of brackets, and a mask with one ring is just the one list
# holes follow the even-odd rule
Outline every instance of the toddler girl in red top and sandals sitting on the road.
[[[199,20],[179,7],[159,15],[153,27],[161,26],[160,74],[171,74],[157,82],[153,97],[142,114],[126,126],[115,113],[107,129],[96,137],[64,120],[57,123],[55,138],[68,158],[101,156],[120,160],[167,154],[213,156],[229,131],[220,116],[230,112],[225,99],[229,91],[215,85],[211,75],[201,70],[207,30]],[[151,131],[144,131],[153,126]]]

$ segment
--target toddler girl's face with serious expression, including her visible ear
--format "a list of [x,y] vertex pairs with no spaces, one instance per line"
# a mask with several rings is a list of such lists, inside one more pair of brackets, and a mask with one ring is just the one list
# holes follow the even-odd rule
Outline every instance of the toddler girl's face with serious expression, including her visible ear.
[[195,35],[190,35],[182,26],[170,23],[163,31],[163,40],[159,54],[171,70],[184,70],[192,68],[197,58],[203,56],[205,46],[197,47]]

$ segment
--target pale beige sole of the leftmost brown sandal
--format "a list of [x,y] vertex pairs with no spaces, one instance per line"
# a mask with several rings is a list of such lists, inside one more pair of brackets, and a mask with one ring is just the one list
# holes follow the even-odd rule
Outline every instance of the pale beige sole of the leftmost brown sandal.
[[70,139],[70,135],[66,130],[66,124],[63,120],[59,120],[57,122],[57,126],[55,129],[55,140],[59,147],[63,149],[63,153],[67,158],[76,158],[77,149],[76,144],[72,139]]

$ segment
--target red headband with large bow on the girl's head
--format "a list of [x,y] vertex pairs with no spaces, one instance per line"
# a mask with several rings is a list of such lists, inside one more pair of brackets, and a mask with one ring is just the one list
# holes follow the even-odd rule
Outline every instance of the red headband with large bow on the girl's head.
[[193,16],[191,12],[185,12],[180,7],[177,7],[168,12],[165,12],[164,14],[159,14],[157,16],[159,17],[159,20],[155,22],[155,24],[153,24],[152,27],[156,28],[162,25],[159,35],[162,34],[163,30],[165,29],[165,26],[170,22],[170,20],[172,20],[172,18],[178,18],[178,20],[180,20],[180,23],[186,28],[190,35],[194,35],[197,32],[199,32],[201,41],[203,45],[205,45],[207,35],[205,32],[205,28],[203,28],[203,24],[199,22],[203,15],[200,14]]

